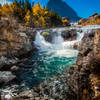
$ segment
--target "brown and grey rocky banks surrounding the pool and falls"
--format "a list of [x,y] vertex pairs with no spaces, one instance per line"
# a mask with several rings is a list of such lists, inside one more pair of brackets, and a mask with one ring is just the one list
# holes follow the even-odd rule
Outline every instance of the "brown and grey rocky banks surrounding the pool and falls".
[[[76,40],[76,30],[66,29],[61,34],[64,40]],[[81,30],[78,31],[82,33]],[[48,31],[44,31],[41,35],[45,35],[44,38],[49,43],[52,43],[53,40],[50,39],[52,35],[58,36],[59,34],[56,34],[54,31],[50,31],[49,33],[53,34],[48,34]],[[34,62],[36,59],[31,58],[32,56],[35,58],[34,55],[37,51],[33,43],[35,37],[36,29],[17,23],[11,24],[8,20],[0,21],[1,100],[99,100],[99,29],[89,31],[81,41],[74,41],[75,44],[73,47],[79,50],[76,64],[73,63],[74,65],[64,68],[63,72],[56,73],[55,76],[48,77],[48,79],[44,79],[38,85],[30,85],[30,87],[26,85],[25,81],[19,80],[19,77],[23,75],[27,83],[32,83],[30,81],[32,81],[31,78],[33,77],[27,80],[24,74],[31,74],[34,69],[33,65],[36,65]],[[46,56],[42,59],[47,61],[45,58]],[[40,63],[43,63],[42,59],[39,59],[41,60]],[[65,58],[61,60],[63,61]],[[69,61],[71,62],[71,59]]]

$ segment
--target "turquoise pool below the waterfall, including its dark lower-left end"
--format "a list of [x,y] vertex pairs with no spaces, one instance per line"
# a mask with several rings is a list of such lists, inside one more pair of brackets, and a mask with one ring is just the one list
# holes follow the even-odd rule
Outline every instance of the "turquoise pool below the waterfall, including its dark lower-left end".
[[[33,63],[31,63],[33,62]],[[30,65],[26,65],[24,74],[20,76],[22,83],[27,86],[38,85],[44,80],[57,76],[64,72],[65,68],[75,64],[76,57],[62,57],[47,52],[37,52],[31,59]]]

